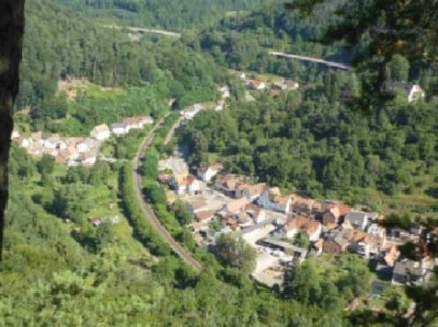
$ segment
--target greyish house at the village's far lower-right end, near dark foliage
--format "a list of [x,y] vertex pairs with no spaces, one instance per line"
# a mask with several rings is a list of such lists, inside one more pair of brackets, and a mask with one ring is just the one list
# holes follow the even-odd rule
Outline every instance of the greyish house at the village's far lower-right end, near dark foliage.
[[430,271],[424,261],[402,259],[395,262],[392,283],[422,285],[428,281],[429,277]]

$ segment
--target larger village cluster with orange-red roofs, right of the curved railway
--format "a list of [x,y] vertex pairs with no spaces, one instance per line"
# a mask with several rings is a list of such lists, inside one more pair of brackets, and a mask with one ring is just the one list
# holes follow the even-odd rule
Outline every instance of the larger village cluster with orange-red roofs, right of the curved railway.
[[[285,194],[244,176],[220,175],[220,163],[195,167],[181,157],[159,163],[158,180],[169,186],[168,205],[180,198],[193,214],[191,230],[198,245],[214,246],[222,233],[237,233],[257,250],[253,277],[273,287],[281,284],[289,267],[323,253],[355,253],[376,260],[376,273],[394,284],[425,283],[436,266],[427,256],[404,258],[397,247],[438,237],[418,224],[408,231],[382,226],[382,217],[364,206],[314,200]],[[171,173],[170,173],[171,172]]]

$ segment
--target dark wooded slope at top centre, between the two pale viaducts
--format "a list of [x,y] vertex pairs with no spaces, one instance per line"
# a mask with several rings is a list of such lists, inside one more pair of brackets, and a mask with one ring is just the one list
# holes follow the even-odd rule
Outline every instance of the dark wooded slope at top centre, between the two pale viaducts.
[[283,75],[296,73],[299,65],[290,60],[278,60],[269,56],[268,50],[348,62],[349,56],[339,45],[323,46],[318,42],[326,24],[334,20],[331,12],[338,2],[320,7],[307,19],[286,11],[283,3],[268,3],[251,14],[223,19],[200,32],[197,40],[187,39],[187,44],[200,47],[230,68]]

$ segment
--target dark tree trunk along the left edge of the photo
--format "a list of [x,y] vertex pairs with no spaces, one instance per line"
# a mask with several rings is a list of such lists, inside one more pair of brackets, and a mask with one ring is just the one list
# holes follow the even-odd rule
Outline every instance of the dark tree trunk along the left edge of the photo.
[[8,202],[8,156],[24,31],[24,0],[0,0],[0,259]]

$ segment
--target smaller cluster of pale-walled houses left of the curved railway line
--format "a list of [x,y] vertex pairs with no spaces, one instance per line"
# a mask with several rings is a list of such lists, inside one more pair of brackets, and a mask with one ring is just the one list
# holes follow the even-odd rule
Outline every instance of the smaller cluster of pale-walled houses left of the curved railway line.
[[60,137],[46,132],[33,132],[30,136],[13,130],[12,141],[25,149],[30,154],[41,156],[48,154],[55,157],[56,163],[71,166],[93,166],[101,156],[102,143],[111,136],[120,137],[134,129],[143,129],[152,125],[149,116],[129,117],[122,122],[114,122],[110,127],[106,124],[95,126],[90,137]]

